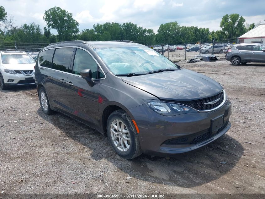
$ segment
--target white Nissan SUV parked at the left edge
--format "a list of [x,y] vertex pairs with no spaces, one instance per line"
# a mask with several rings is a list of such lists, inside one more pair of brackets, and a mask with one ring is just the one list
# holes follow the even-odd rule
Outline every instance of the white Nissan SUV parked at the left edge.
[[23,51],[0,51],[0,86],[35,84],[35,61]]

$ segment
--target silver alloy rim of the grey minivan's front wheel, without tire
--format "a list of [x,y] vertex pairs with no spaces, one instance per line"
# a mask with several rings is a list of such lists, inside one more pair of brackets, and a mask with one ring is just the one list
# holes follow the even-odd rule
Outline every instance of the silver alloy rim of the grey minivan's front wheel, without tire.
[[114,145],[122,152],[130,148],[131,138],[127,126],[119,119],[115,119],[110,126],[110,135]]

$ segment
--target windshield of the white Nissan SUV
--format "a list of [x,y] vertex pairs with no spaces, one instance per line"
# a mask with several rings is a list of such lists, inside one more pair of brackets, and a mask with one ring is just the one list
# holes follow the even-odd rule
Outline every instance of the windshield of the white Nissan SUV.
[[34,59],[29,55],[14,54],[14,55],[2,55],[3,64],[33,64]]

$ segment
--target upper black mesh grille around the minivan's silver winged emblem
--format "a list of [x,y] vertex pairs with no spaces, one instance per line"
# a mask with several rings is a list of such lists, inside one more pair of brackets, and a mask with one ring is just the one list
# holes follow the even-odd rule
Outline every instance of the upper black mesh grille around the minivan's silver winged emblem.
[[[212,102],[214,100],[217,100],[218,98],[220,98],[220,100],[215,104],[204,104],[207,102]],[[193,100],[193,101],[178,101],[177,103],[181,103],[189,107],[195,108],[196,110],[203,111],[218,107],[223,102],[223,100],[224,100],[224,90],[213,97],[207,97],[204,99]]]

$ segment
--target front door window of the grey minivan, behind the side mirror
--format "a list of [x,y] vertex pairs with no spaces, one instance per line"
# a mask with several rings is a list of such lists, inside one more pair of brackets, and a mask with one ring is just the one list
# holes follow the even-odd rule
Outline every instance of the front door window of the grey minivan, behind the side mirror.
[[92,72],[92,78],[97,79],[98,64],[86,51],[77,48],[77,52],[74,60],[73,73],[80,75],[80,71],[84,69],[90,69]]

